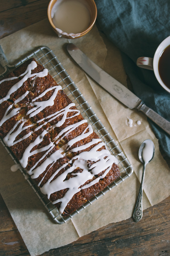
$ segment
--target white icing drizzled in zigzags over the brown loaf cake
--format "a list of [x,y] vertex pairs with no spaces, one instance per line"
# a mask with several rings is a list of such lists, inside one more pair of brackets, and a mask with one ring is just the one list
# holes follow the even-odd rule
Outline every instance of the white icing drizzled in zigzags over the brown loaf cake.
[[[31,74],[31,70],[34,69],[37,66],[35,61],[32,61],[24,74],[20,75],[19,77],[24,76],[19,82],[14,84],[10,91],[8,92],[7,96],[5,96],[3,99],[1,99],[1,103],[5,100],[7,100],[12,92],[15,92],[19,87],[22,86],[22,84],[29,78],[32,77],[32,80],[35,81],[37,77],[42,77],[46,76],[48,71],[44,69],[42,72]],[[12,79],[16,79],[17,77],[13,77]],[[9,80],[9,79],[6,79]],[[3,80],[5,81],[5,79]],[[32,83],[32,86],[34,86],[34,82]],[[41,102],[37,102],[39,98],[43,97],[48,91],[53,90],[53,94],[50,96],[48,100],[44,100]],[[32,106],[32,108],[27,111],[26,115],[29,116],[29,118],[33,117],[34,115],[37,115],[40,111],[42,111],[44,108],[48,106],[53,106],[54,105],[54,100],[56,98],[56,95],[58,93],[58,90],[61,90],[61,86],[53,86],[51,88],[46,89],[44,92],[42,92],[39,96],[34,98],[31,103],[27,104],[28,106]],[[25,98],[25,96],[29,93],[29,91],[25,92],[22,96],[20,96],[17,100],[14,101],[13,104],[11,104],[6,112],[2,120],[0,121],[0,125],[2,125],[5,121],[10,119],[11,117],[17,115],[20,111],[20,108],[15,108],[15,104],[20,102]],[[90,146],[96,144],[93,148],[91,148],[89,151],[83,151],[77,156],[74,156],[71,160],[67,160],[65,164],[60,166],[54,174],[48,179],[48,181],[41,187],[41,192],[44,194],[47,194],[48,198],[50,198],[50,195],[54,192],[57,192],[61,189],[68,189],[68,191],[65,193],[63,198],[58,199],[53,202],[53,204],[61,202],[60,206],[60,213],[62,213],[73,197],[75,193],[80,191],[81,189],[85,189],[87,187],[90,187],[97,183],[99,179],[104,178],[107,173],[111,170],[112,164],[116,163],[117,160],[116,158],[110,154],[109,150],[107,150],[106,145],[101,142],[101,139],[92,139],[92,141],[80,145],[78,147],[72,148],[70,151],[63,152],[64,148],[69,149],[71,148],[76,142],[81,141],[86,139],[88,136],[90,136],[93,133],[93,129],[91,125],[88,125],[86,128],[84,128],[84,131],[80,134],[77,135],[77,137],[71,139],[68,141],[61,149],[56,148],[56,145],[61,141],[65,136],[67,136],[69,133],[74,131],[78,126],[83,125],[84,123],[87,123],[87,120],[82,120],[77,123],[68,125],[65,127],[63,130],[61,130],[58,135],[54,138],[54,141],[51,141],[48,145],[35,149],[33,148],[37,146],[39,143],[42,143],[44,136],[48,134],[49,131],[54,129],[55,127],[60,127],[65,123],[65,121],[69,118],[73,118],[76,115],[80,114],[79,110],[75,109],[70,109],[74,107],[74,103],[70,103],[68,106],[63,108],[62,110],[56,111],[53,114],[50,114],[43,119],[37,121],[38,127],[34,128],[35,124],[31,125],[25,125],[24,124],[27,122],[27,119],[22,118],[21,120],[17,121],[12,129],[8,132],[8,134],[5,136],[3,139],[4,143],[7,146],[13,146],[14,144],[23,141],[24,139],[27,139],[29,136],[31,136],[33,133],[38,131],[39,129],[43,128],[43,125],[46,125],[50,121],[56,119],[57,117],[61,116],[61,120],[58,121],[56,124],[52,125],[49,127],[48,131],[42,129],[42,133],[32,140],[31,143],[25,148],[25,151],[22,155],[22,158],[19,160],[20,164],[22,165],[23,168],[26,168],[28,164],[29,157],[36,155],[40,152],[43,152],[43,156],[30,168],[30,170],[27,171],[29,175],[31,175],[31,178],[38,178],[44,171],[45,175],[43,175],[41,181],[39,182],[39,186],[41,185],[44,177],[46,176],[48,170],[52,168],[54,163],[56,163],[57,160],[62,160],[67,154],[70,154],[71,152],[78,152],[81,150],[86,150]],[[12,109],[12,110],[11,110]],[[11,110],[11,111],[10,111]],[[8,113],[10,111],[10,113]],[[70,117],[67,117],[68,113],[73,113]],[[42,122],[41,125],[39,125]],[[32,128],[30,131],[27,131],[27,134],[25,134],[22,138],[19,138],[16,140],[16,137],[24,130]],[[16,141],[15,141],[16,140]],[[101,149],[102,146],[105,146],[105,149]],[[53,150],[53,151],[52,151]],[[48,157],[47,157],[48,156]],[[90,168],[88,168],[88,160],[91,160],[93,163]],[[41,162],[41,164],[40,164]],[[68,165],[70,164],[70,165]],[[67,168],[69,166],[69,168]],[[16,166],[17,167],[17,166]],[[48,170],[47,170],[48,167]],[[76,168],[82,169],[82,172],[79,173],[72,173]],[[57,175],[57,173],[63,169],[66,168],[66,170],[59,175],[56,179],[54,177]],[[12,170],[15,170],[16,168],[12,168]],[[104,174],[101,176],[97,177],[90,183],[82,186],[84,183],[86,183],[88,180],[92,179],[94,175],[98,175],[102,171],[104,171]],[[73,175],[72,178],[69,178],[68,180],[65,180],[67,177],[67,174],[71,173]],[[54,180],[53,180],[54,179]],[[53,180],[53,181],[52,181]],[[82,186],[80,188],[80,186]]]

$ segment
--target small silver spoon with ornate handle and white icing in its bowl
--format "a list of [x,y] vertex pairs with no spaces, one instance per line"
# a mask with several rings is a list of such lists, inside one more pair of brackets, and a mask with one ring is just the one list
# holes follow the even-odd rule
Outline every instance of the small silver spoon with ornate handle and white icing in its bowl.
[[148,164],[153,159],[154,153],[155,153],[154,143],[150,139],[143,141],[143,143],[139,148],[139,154],[138,154],[139,160],[143,163],[143,173],[142,173],[142,179],[141,179],[141,186],[139,189],[139,195],[138,195],[136,207],[133,213],[133,218],[136,222],[138,222],[142,218],[142,212],[143,212],[142,194],[143,194],[143,181],[145,176],[146,164]]

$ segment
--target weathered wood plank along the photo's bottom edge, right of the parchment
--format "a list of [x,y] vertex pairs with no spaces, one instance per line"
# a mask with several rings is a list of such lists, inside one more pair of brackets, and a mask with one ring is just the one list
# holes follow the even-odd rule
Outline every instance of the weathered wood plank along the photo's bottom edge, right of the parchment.
[[[168,230],[167,232],[169,232]],[[158,236],[159,235],[159,236]],[[166,240],[166,241],[165,241]],[[68,253],[69,252],[69,253]],[[73,245],[50,250],[43,256],[169,256],[169,239],[164,237],[163,232],[154,234],[142,232],[140,235],[129,234],[105,240],[94,241],[83,245]]]

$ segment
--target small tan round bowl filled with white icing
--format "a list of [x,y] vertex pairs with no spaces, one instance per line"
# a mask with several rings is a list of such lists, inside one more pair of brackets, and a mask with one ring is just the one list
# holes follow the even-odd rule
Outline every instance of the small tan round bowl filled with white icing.
[[93,27],[97,17],[94,0],[51,0],[48,20],[59,37],[79,38]]

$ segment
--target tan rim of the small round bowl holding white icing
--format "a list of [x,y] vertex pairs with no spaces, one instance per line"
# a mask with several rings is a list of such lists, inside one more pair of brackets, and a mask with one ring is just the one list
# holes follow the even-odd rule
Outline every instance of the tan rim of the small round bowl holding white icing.
[[[52,7],[54,6],[54,4],[55,4],[57,1],[58,1],[58,0],[50,0],[50,2],[49,2],[49,4],[48,4],[48,9],[47,9],[48,20],[49,20],[50,25],[52,26],[52,28],[54,28],[54,30],[56,31],[56,33],[57,33],[57,30],[56,30],[56,26],[55,26],[55,25],[53,24],[53,22],[52,22],[50,9],[52,9]],[[87,0],[84,0],[84,1],[88,2]],[[96,18],[97,18],[97,7],[96,7],[96,4],[95,4],[95,1],[94,1],[94,0],[90,0],[90,1],[91,1],[92,4],[94,5],[94,10],[95,10],[95,16],[94,16],[94,18],[93,18],[93,21],[90,22],[90,25],[88,26],[88,28],[86,28],[86,30],[84,30],[84,31],[82,31],[82,32],[80,32],[80,33],[76,33],[76,34],[70,33],[70,34],[73,34],[73,35],[77,35],[77,36],[75,36],[75,38],[78,37],[78,36],[82,36],[83,34],[86,34],[86,33],[93,27],[93,25],[94,25],[94,23],[95,23],[95,21],[96,21]],[[54,2],[54,4],[52,5],[53,2]],[[52,6],[52,7],[51,7],[51,6]],[[64,31],[62,31],[62,32],[65,33]],[[69,33],[68,33],[68,37],[70,37],[70,36],[69,36]]]

